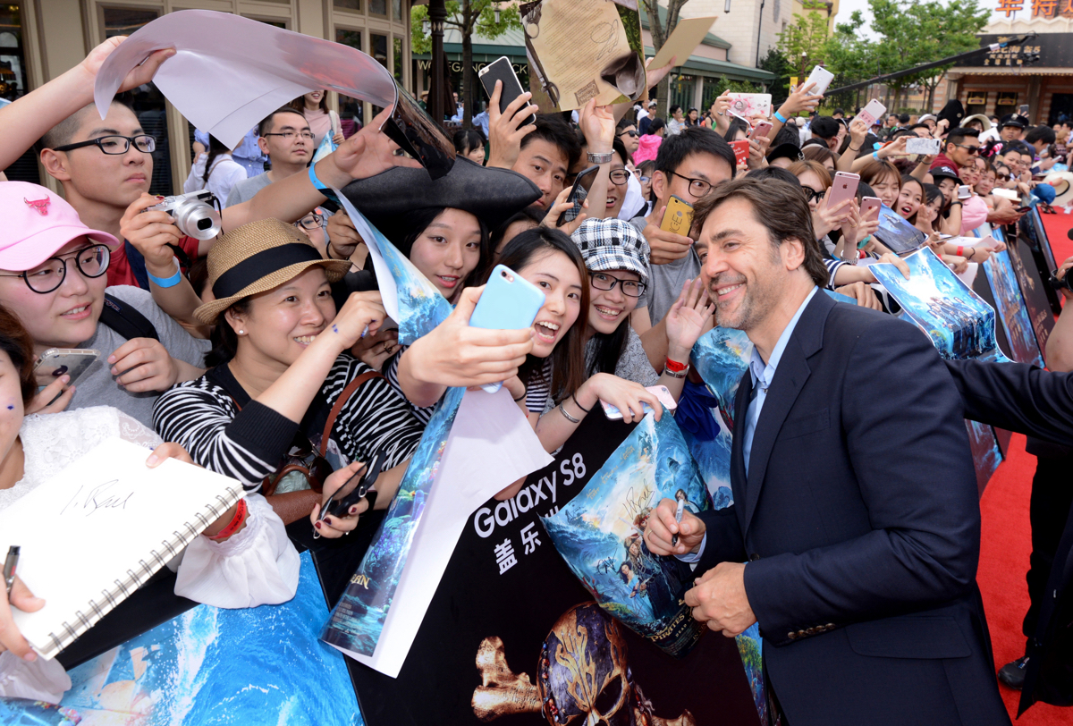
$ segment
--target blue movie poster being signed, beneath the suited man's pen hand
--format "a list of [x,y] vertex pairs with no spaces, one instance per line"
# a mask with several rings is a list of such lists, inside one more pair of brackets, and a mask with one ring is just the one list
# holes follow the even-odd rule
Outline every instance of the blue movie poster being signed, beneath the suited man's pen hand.
[[666,411],[648,414],[592,476],[580,495],[543,520],[559,554],[612,617],[671,655],[704,635],[681,598],[689,565],[648,550],[645,530],[660,501],[692,514],[711,508],[689,446]]

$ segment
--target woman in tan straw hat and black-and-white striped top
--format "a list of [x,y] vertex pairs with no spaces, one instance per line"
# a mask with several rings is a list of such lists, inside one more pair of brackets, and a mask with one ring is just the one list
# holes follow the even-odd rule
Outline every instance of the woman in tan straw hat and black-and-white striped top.
[[[208,256],[216,299],[195,311],[217,326],[209,370],[153,410],[164,439],[247,491],[263,491],[286,522],[317,519],[326,471],[353,474],[377,454],[386,456],[377,506],[386,507],[422,434],[406,401],[349,354],[384,321],[378,293],[352,295],[336,314],[329,283],[349,268],[279,220],[221,235]],[[367,506],[314,527],[340,536]]]

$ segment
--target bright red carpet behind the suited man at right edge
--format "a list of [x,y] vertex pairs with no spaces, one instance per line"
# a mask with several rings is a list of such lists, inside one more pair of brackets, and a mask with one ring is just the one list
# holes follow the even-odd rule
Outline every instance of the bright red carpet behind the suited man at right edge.
[[[1065,236],[1073,226],[1071,214],[1043,214],[1055,257],[1059,263],[1073,255],[1073,242]],[[1032,549],[1028,521],[1028,501],[1032,491],[1035,457],[1025,453],[1025,436],[1014,435],[1009,457],[1003,461],[980,501],[983,517],[980,571],[976,580],[984,597],[987,624],[995,649],[995,668],[1025,654],[1021,619],[1028,609],[1028,555]],[[1019,691],[1002,684],[999,690],[1010,716],[1017,713]],[[1018,726],[1069,726],[1073,724],[1073,708],[1056,708],[1037,703],[1020,717]]]

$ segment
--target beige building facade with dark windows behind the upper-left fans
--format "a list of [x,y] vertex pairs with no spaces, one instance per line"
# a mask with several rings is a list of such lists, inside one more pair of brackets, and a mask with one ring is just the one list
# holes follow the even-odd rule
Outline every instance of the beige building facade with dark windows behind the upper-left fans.
[[[0,97],[13,101],[79,63],[113,35],[129,35],[164,13],[215,10],[269,23],[368,53],[403,85],[410,76],[411,0],[11,0],[0,5]],[[344,117],[371,107],[328,94]],[[133,93],[143,128],[157,137],[152,193],[182,191],[193,131],[153,85]],[[6,171],[10,179],[56,188],[32,152]]]

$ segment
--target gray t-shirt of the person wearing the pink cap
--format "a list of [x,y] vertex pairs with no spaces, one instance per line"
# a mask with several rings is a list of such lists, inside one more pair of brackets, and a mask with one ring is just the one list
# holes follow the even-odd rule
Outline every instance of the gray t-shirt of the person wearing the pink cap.
[[[205,367],[205,354],[212,347],[207,340],[192,337],[181,325],[161,310],[152,301],[152,295],[141,287],[116,285],[105,292],[129,303],[145,315],[153,327],[164,349],[173,358],[185,360],[197,368]],[[152,428],[152,404],[164,391],[146,391],[134,394],[122,388],[112,375],[108,356],[127,342],[127,339],[106,325],[98,323],[93,337],[76,347],[92,347],[101,352],[101,357],[90,366],[75,385],[74,398],[69,410],[87,409],[93,405],[111,405],[119,409],[128,416],[136,418],[150,429]]]

